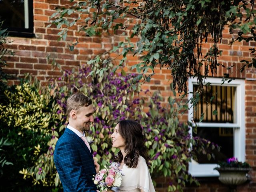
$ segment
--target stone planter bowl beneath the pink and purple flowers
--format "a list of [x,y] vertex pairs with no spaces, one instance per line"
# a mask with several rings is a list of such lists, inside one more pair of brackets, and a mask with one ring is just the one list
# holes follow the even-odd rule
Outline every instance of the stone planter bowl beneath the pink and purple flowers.
[[237,186],[247,181],[250,168],[215,168],[219,173],[219,180],[229,186]]

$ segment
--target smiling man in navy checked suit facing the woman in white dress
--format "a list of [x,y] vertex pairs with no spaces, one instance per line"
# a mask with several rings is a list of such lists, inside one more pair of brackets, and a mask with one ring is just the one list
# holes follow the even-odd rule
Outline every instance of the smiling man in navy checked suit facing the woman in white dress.
[[64,192],[96,192],[92,178],[100,166],[94,162],[84,134],[94,122],[92,100],[75,93],[67,100],[66,113],[69,124],[54,150],[54,163]]

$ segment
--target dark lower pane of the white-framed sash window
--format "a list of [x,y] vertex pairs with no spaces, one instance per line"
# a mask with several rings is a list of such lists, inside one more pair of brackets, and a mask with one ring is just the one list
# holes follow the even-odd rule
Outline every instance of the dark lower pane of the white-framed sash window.
[[206,155],[197,155],[198,163],[218,163],[234,156],[234,128],[209,128],[198,127],[197,134],[193,133],[193,137],[200,137],[210,140],[220,146],[220,152],[217,149],[209,149],[215,155],[215,159],[209,161]]

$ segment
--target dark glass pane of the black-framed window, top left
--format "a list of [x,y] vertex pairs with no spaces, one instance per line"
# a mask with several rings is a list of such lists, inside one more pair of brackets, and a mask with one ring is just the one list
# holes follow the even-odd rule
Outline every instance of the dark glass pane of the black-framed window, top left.
[[0,16],[4,20],[4,26],[28,28],[27,2],[28,0],[0,0]]

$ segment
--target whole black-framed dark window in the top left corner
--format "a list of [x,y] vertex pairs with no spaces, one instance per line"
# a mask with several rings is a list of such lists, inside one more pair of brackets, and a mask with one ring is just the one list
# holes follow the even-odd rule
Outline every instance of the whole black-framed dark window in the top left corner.
[[0,0],[0,20],[11,36],[34,36],[33,0]]

